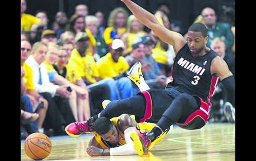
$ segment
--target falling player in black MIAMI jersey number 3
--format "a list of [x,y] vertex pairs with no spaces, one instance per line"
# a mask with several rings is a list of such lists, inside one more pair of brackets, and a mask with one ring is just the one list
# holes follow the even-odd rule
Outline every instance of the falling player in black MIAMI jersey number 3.
[[[206,47],[208,36],[205,25],[193,24],[188,30],[186,41],[181,34],[165,28],[153,14],[131,0],[121,1],[162,41],[173,45],[177,53],[173,66],[174,80],[166,89],[149,89],[141,77],[141,64],[137,63],[131,68],[128,77],[142,92],[132,98],[110,102],[106,109],[92,119],[70,124],[69,132],[81,133],[90,129],[90,123],[99,117],[111,119],[121,114],[135,115],[137,122],[147,120],[157,123],[146,135],[151,141],[174,123],[185,129],[201,128],[209,118],[210,98],[214,94],[218,80],[227,89],[235,106],[234,77],[225,61]],[[86,128],[81,129],[80,124]]]

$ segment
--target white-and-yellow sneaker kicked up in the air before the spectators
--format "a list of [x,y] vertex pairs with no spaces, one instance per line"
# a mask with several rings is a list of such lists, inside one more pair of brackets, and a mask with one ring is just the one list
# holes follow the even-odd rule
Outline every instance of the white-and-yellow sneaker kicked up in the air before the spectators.
[[127,73],[127,77],[131,79],[137,86],[141,83],[140,77],[142,77],[141,63],[137,61]]

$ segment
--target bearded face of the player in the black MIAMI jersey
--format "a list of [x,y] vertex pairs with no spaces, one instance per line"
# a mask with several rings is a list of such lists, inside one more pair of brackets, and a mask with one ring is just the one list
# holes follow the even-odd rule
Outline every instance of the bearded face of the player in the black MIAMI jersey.
[[200,53],[204,48],[208,37],[203,37],[201,32],[188,32],[188,45],[192,55]]

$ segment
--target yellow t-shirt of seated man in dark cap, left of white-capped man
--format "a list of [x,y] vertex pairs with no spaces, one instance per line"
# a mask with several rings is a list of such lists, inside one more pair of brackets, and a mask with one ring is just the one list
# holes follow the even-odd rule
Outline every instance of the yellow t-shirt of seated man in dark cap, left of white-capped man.
[[85,77],[87,81],[96,83],[95,77],[99,77],[98,68],[94,58],[91,55],[81,57],[74,48],[68,61],[73,61],[77,65],[77,71],[81,77]]

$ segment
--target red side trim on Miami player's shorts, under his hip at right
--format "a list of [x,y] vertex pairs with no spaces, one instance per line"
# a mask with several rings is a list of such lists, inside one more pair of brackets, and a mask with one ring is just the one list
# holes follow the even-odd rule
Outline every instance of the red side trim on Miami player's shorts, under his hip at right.
[[190,123],[196,117],[202,118],[203,121],[205,122],[205,124],[207,123],[207,120],[210,117],[209,109],[211,108],[211,105],[209,105],[206,102],[203,102],[203,100],[200,97],[198,97],[198,98],[201,101],[200,109],[193,112],[184,123],[176,122],[177,125],[186,125],[186,124]]

